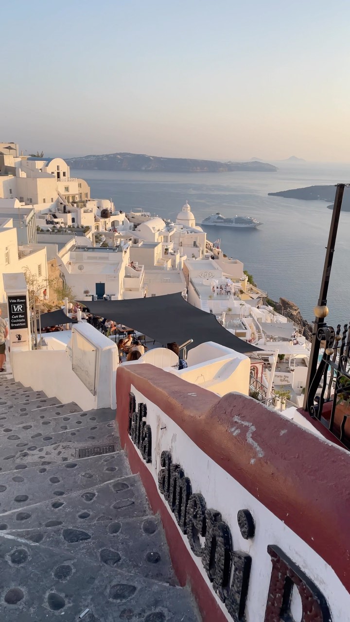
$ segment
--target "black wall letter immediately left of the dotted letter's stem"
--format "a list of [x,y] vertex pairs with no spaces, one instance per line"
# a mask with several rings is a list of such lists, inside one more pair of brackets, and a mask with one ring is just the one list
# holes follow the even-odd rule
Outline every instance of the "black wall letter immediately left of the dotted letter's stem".
[[230,527],[222,521],[220,512],[207,510],[207,533],[202,564],[212,581],[214,591],[222,602],[229,595],[232,560]]

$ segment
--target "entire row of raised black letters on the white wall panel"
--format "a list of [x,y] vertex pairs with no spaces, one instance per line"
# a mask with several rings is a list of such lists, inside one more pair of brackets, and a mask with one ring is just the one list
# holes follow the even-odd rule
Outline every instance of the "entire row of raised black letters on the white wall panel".
[[[152,462],[152,431],[147,423],[146,404],[138,404],[130,393],[129,435],[146,463]],[[219,511],[207,508],[200,491],[192,491],[191,480],[171,452],[161,453],[158,490],[164,496],[177,525],[187,537],[192,555],[201,558],[212,590],[235,622],[245,622],[250,570],[254,560],[232,544],[229,525]],[[246,540],[255,537],[255,521],[248,509],[237,514],[237,529]],[[204,542],[204,544],[202,544]],[[293,620],[291,596],[295,587],[301,598],[303,622],[332,622],[326,598],[309,577],[276,545],[267,547],[272,561],[265,622]],[[253,598],[253,596],[251,596]]]

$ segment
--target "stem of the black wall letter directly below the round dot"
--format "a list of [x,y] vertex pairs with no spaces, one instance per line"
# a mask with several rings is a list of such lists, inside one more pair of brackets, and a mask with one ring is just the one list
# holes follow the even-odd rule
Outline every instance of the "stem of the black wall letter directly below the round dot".
[[247,553],[234,551],[232,553],[234,573],[229,596],[225,600],[225,607],[235,622],[245,622],[245,604],[247,602],[252,558]]

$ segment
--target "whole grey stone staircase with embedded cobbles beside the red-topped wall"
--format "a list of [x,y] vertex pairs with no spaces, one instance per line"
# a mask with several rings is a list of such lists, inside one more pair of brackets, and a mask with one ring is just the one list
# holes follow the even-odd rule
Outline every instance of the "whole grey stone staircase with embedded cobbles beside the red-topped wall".
[[0,379],[0,620],[201,619],[114,419]]

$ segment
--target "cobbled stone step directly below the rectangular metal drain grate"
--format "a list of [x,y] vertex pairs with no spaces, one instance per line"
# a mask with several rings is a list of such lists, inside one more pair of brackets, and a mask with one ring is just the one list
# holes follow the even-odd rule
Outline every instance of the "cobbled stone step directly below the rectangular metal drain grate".
[[17,509],[16,521],[22,524],[27,518],[28,505],[48,499],[62,501],[66,494],[73,491],[92,488],[104,481],[130,475],[130,467],[123,452],[111,454],[108,465],[103,462],[105,458],[105,455],[93,456],[80,458],[75,462],[34,466],[22,469],[21,473],[1,473],[1,515]]

